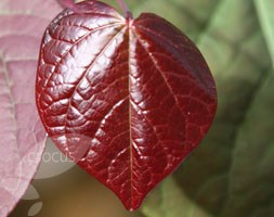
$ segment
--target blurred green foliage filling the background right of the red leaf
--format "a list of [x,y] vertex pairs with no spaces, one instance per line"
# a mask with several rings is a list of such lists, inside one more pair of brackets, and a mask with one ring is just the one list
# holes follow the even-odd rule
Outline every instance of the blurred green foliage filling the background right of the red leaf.
[[[115,1],[106,1],[115,4]],[[201,50],[219,108],[200,145],[143,204],[147,217],[274,216],[273,0],[128,0]]]

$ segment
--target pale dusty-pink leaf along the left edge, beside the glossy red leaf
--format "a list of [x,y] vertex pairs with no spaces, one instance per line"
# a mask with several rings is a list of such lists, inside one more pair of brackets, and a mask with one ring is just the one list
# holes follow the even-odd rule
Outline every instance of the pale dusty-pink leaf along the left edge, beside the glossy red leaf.
[[41,36],[61,8],[54,0],[0,3],[0,216],[32,179],[45,141],[35,103]]

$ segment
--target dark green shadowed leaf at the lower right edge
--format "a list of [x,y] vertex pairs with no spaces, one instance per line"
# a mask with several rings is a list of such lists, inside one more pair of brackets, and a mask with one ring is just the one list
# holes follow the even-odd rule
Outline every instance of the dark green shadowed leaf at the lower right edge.
[[274,216],[273,91],[269,74],[237,132],[223,216]]

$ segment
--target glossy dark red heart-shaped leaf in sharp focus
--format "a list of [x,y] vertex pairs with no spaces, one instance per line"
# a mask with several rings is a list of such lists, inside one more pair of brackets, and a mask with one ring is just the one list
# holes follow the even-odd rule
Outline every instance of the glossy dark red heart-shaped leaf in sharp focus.
[[78,7],[81,14],[65,10],[45,30],[39,113],[56,145],[135,209],[207,132],[214,81],[195,44],[164,18]]

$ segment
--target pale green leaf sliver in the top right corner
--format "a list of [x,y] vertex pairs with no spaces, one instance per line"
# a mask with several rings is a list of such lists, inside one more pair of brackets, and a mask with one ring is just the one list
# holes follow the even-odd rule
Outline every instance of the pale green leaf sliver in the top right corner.
[[274,1],[255,0],[255,4],[274,67]]

